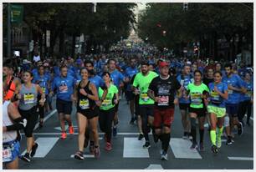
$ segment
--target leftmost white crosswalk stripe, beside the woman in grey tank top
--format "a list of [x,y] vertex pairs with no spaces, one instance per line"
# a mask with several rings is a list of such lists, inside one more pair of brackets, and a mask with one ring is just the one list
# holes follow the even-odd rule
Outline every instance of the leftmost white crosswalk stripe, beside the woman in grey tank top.
[[[46,154],[49,153],[49,151],[54,147],[54,144],[57,143],[59,138],[38,138],[35,142],[39,144],[36,154],[34,154],[33,157],[36,158],[44,158]],[[27,150],[23,151],[23,154],[25,154]]]

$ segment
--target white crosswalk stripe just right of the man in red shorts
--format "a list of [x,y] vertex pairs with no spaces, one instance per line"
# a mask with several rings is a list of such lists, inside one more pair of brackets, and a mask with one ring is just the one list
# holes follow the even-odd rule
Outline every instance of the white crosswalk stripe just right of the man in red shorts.
[[177,159],[202,159],[197,150],[190,149],[191,141],[187,139],[172,138],[170,146],[172,152]]

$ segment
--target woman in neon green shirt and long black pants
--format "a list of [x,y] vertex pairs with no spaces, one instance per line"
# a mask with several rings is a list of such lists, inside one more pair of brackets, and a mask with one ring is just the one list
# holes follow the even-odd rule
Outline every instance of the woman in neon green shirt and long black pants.
[[103,90],[99,88],[100,98],[100,130],[105,133],[105,150],[110,151],[112,149],[111,134],[112,134],[112,122],[115,116],[115,106],[118,104],[119,95],[118,89],[113,83],[111,83],[110,73],[103,73],[103,79],[105,85],[108,88],[108,94],[105,99],[102,97]]

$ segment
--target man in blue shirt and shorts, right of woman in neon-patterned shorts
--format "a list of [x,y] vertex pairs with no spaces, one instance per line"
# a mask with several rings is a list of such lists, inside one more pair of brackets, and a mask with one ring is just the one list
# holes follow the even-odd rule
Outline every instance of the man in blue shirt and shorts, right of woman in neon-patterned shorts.
[[226,132],[228,135],[227,144],[232,144],[232,135],[231,132],[233,130],[233,126],[237,125],[238,127],[238,135],[243,134],[243,124],[238,121],[238,104],[240,93],[242,93],[245,89],[243,88],[243,80],[238,76],[238,74],[233,74],[231,64],[225,65],[226,76],[223,77],[223,83],[228,84],[228,99],[226,100],[226,111],[227,118],[230,120],[230,127],[226,126]]

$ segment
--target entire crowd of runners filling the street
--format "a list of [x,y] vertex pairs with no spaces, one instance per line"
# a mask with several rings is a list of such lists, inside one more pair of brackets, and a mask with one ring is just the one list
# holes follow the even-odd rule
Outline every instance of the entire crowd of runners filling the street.
[[[212,153],[218,154],[223,134],[230,145],[234,134],[243,134],[243,127],[251,125],[253,68],[244,62],[161,54],[98,54],[33,62],[24,59],[19,63],[6,60],[3,164],[7,169],[17,169],[18,158],[31,162],[40,146],[34,141],[33,129],[37,123],[39,128],[48,127],[44,116],[53,107],[59,114],[61,139],[67,138],[65,124],[69,125],[69,134],[74,134],[71,112],[75,109],[79,134],[74,159],[84,159],[87,147],[99,159],[102,149],[115,149],[112,137],[118,134],[120,99],[130,106],[131,121],[127,124],[137,126],[138,139],[145,139],[143,148],[151,147],[150,132],[155,143],[161,141],[162,160],[167,160],[175,109],[180,109],[182,116],[181,137],[192,141],[190,149],[203,151],[204,134],[209,134]],[[102,145],[98,126],[105,133]],[[20,131],[27,139],[23,155]]]

